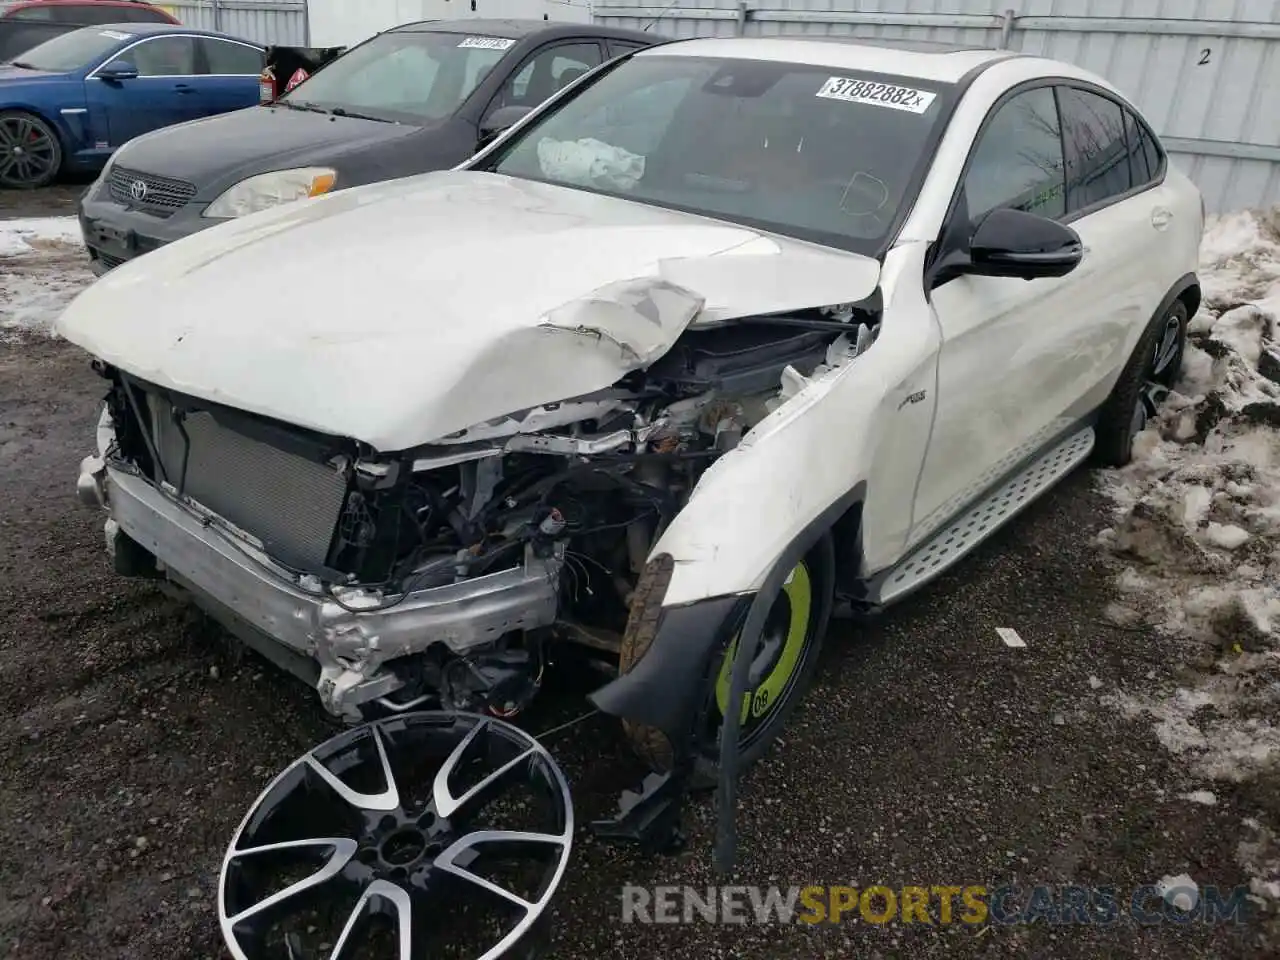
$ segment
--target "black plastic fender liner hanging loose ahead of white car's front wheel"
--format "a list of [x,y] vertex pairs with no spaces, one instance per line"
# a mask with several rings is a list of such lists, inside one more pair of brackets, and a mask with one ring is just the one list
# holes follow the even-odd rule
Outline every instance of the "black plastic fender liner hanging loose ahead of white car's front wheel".
[[[652,561],[663,562],[669,581],[671,557],[663,554]],[[649,603],[660,608],[666,588],[663,582]],[[603,713],[657,727],[678,750],[691,735],[712,653],[732,641],[753,596],[714,596],[662,611],[649,652],[630,672],[605,684],[588,700]]]

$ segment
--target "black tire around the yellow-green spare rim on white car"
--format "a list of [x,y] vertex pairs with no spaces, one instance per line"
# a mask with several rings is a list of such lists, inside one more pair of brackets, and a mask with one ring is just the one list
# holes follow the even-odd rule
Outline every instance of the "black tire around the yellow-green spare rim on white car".
[[[646,570],[646,573],[648,572],[649,571]],[[804,639],[799,650],[799,658],[795,666],[790,669],[787,678],[783,681],[785,689],[782,690],[780,698],[764,698],[764,707],[760,708],[760,717],[763,721],[758,724],[753,724],[754,728],[750,731],[748,730],[748,726],[744,724],[740,731],[741,754],[739,759],[739,769],[746,769],[765,754],[777,739],[778,733],[782,731],[782,727],[786,724],[791,712],[796,708],[796,704],[804,699],[805,692],[813,682],[814,672],[818,669],[822,641],[831,621],[831,609],[835,599],[835,563],[829,538],[824,538],[819,547],[805,556],[805,558],[796,566],[787,586],[783,588],[783,593],[780,594],[774,607],[769,611],[771,617],[778,613],[780,609],[785,609],[788,618],[796,616],[796,609],[800,608],[801,604],[792,604],[791,598],[794,591],[791,588],[801,581],[809,585],[809,602],[804,625]],[[628,673],[634,669],[640,659],[649,652],[649,646],[657,636],[658,611],[657,604],[646,604],[645,598],[648,598],[652,591],[664,588],[666,584],[662,582],[658,576],[641,576],[632,599],[632,616],[627,622],[627,628],[622,637],[622,652],[618,662],[620,675]],[[648,613],[648,616],[639,616],[641,612]],[[794,622],[788,620],[787,634],[790,635],[792,630],[795,630]],[[765,632],[768,634],[768,631],[769,623],[767,622]],[[778,663],[776,663],[772,669],[781,666],[781,660],[786,658],[786,650],[788,646],[790,643],[783,640],[782,648],[777,654]],[[723,699],[727,699],[727,687],[721,687],[718,682],[723,675],[727,675],[727,671],[724,669],[727,653],[727,648],[724,650],[719,650],[717,654],[717,662],[710,664],[712,668],[708,671],[707,685],[704,686],[704,695],[707,699],[704,704],[700,704],[707,707],[707,713],[709,714],[710,723],[713,724],[708,726],[705,731],[700,731],[695,745],[696,756],[694,786],[700,788],[714,786],[717,771],[719,769],[719,745],[716,733],[722,723],[722,713],[718,707],[717,694],[719,692],[723,695]],[[763,682],[748,692],[746,701],[744,703],[744,712],[754,712],[756,709],[760,691],[769,687],[772,680],[773,672],[769,672],[765,677],[763,677]],[[675,751],[671,741],[662,731],[653,727],[630,723],[627,721],[623,721],[622,726],[636,754],[649,765],[650,769],[659,773],[666,773],[671,769],[672,763],[675,762]]]

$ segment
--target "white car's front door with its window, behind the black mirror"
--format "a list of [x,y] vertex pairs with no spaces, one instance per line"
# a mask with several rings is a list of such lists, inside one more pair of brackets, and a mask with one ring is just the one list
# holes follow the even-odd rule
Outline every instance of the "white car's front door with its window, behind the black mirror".
[[[966,243],[998,207],[1066,219],[1065,166],[1053,88],[1016,90],[974,141],[943,236]],[[960,275],[931,292],[942,335],[937,413],[909,547],[1084,415],[1093,339],[1114,306],[1094,300],[1102,273],[1094,251],[1066,276]]]

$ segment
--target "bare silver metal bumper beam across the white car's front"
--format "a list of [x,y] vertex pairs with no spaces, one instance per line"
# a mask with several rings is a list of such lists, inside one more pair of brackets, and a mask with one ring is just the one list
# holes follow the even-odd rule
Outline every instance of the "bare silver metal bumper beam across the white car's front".
[[[403,681],[388,668],[401,657],[444,644],[454,653],[556,620],[561,558],[526,554],[522,566],[417,590],[381,602],[365,591],[337,596],[303,590],[287,571],[219,527],[216,517],[179,503],[143,477],[101,457],[81,465],[82,502],[105,507],[113,553],[120,535],[152,554],[157,571],[193,594],[232,632],[255,648],[264,640],[288,660],[319,668],[325,708],[358,719],[360,705],[388,696]],[[292,654],[292,657],[291,657]],[[278,663],[282,658],[273,657]],[[306,676],[306,671],[293,668]],[[311,671],[312,680],[315,669]]]

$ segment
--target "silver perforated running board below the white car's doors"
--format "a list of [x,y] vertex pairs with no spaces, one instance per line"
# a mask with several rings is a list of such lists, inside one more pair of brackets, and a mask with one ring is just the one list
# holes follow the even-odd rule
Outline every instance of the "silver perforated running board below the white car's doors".
[[1093,428],[1087,426],[1030,461],[920,544],[906,559],[877,576],[869,585],[867,600],[876,607],[890,604],[942,573],[1083,463],[1093,451]]

